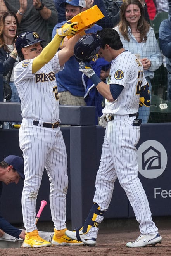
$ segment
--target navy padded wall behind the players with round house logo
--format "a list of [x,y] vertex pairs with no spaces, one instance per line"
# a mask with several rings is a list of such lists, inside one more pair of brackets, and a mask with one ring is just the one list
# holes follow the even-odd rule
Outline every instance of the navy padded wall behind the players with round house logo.
[[[68,114],[73,110],[76,118],[75,114]],[[65,111],[64,109],[63,112],[61,111],[61,121],[68,115],[68,118],[71,118],[75,124],[61,128],[68,158],[69,188],[66,216],[67,220],[72,221],[72,228],[76,228],[84,222],[93,204],[95,176],[100,162],[105,129],[95,125],[95,121],[93,121],[95,120],[94,107],[73,108],[68,106],[65,107]],[[3,115],[0,106],[0,121]],[[137,145],[139,178],[149,199],[152,216],[170,215],[170,131],[171,123],[147,124],[140,128],[140,141]],[[22,156],[18,130],[0,129],[0,145],[0,160],[9,154]],[[21,193],[23,184],[23,181],[20,180],[18,185],[3,186],[1,213],[10,223],[22,223]],[[41,214],[40,221],[51,221],[49,180],[45,171],[38,194],[36,212],[40,207],[41,200],[46,200],[47,206]],[[117,180],[111,204],[104,214],[104,218],[132,217],[135,217],[132,208]]]

